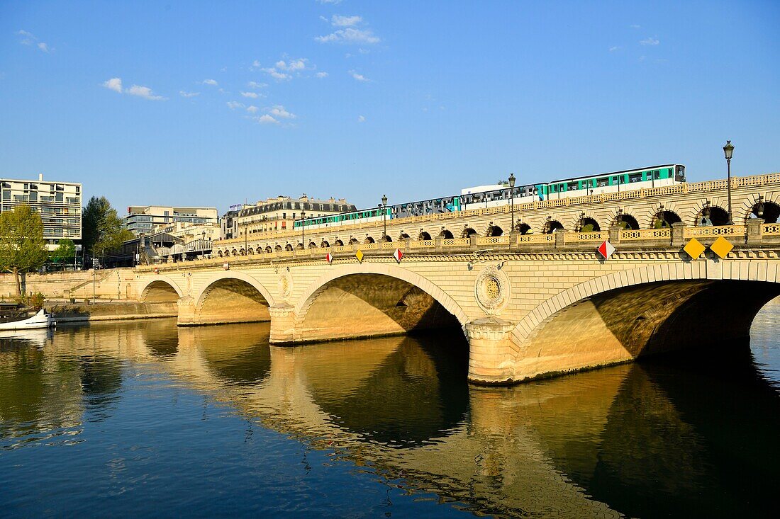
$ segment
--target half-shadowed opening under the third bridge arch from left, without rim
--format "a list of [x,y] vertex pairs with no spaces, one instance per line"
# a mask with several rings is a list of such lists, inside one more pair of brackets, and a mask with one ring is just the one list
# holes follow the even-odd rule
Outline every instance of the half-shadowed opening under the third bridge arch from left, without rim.
[[385,274],[328,281],[303,304],[299,319],[309,341],[460,327],[426,291]]

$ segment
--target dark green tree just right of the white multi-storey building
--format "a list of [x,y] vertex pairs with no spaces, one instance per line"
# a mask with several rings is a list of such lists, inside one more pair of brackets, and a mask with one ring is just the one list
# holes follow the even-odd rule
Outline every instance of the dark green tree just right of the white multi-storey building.
[[122,242],[131,240],[134,236],[122,227],[122,218],[105,196],[93,196],[82,214],[81,238],[86,258],[87,252],[95,255],[96,252],[118,249]]

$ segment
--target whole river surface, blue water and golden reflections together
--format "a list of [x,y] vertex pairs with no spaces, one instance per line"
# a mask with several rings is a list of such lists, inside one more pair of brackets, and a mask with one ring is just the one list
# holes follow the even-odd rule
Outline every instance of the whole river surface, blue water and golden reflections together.
[[511,388],[466,383],[457,334],[6,334],[0,516],[773,514],[778,324],[773,302],[750,345],[703,367],[698,353]]

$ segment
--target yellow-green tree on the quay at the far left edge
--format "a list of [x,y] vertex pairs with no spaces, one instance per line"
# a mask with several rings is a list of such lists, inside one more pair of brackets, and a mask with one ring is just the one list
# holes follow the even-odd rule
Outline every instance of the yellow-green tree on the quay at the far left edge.
[[40,214],[26,205],[0,214],[0,269],[13,273],[16,295],[22,295],[24,274],[43,267],[47,258]]

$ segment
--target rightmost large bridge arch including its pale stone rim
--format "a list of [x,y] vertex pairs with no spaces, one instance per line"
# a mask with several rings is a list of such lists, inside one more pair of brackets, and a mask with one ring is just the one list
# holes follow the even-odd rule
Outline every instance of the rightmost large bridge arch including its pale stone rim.
[[750,335],[750,323],[761,307],[780,295],[774,270],[761,273],[753,266],[752,281],[740,279],[750,261],[729,261],[730,268],[717,279],[693,267],[689,263],[667,274],[654,266],[640,267],[549,298],[512,331],[512,341],[533,352],[519,358],[518,378],[739,341]]

